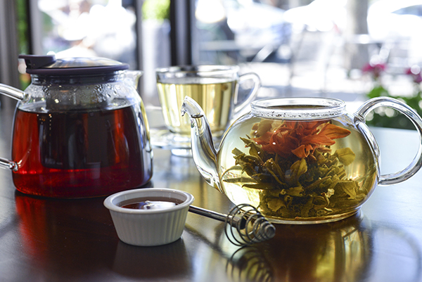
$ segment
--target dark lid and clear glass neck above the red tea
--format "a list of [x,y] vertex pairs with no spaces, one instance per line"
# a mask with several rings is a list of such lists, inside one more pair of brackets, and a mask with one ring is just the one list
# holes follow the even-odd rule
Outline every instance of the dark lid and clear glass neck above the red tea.
[[[132,93],[125,87],[122,71],[128,64],[108,58],[58,58],[56,56],[20,55],[32,84],[25,92],[41,99],[48,110],[107,108],[117,96]],[[117,84],[115,82],[118,82]]]

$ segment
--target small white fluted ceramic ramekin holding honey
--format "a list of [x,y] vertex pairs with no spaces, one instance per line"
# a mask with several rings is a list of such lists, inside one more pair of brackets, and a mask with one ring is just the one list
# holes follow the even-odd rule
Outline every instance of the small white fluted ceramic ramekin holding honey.
[[[136,198],[164,197],[183,203],[158,210],[136,210],[120,207],[122,202]],[[168,188],[139,188],[108,196],[104,205],[110,210],[117,236],[130,245],[165,245],[177,241],[183,233],[188,208],[193,196]]]

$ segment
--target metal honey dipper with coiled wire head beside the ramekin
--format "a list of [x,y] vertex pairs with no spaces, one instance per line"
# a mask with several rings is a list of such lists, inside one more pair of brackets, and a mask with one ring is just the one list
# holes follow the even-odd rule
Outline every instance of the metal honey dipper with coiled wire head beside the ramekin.
[[[226,223],[224,233],[231,243],[238,246],[251,245],[269,240],[276,235],[276,228],[252,205],[241,204],[229,214],[220,214],[201,207],[189,206],[189,212],[217,219]],[[230,231],[228,231],[230,230]]]

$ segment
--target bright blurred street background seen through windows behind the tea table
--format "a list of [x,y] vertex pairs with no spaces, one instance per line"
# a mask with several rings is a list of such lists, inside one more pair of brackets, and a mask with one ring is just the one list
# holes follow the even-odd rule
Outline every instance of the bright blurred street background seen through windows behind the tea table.
[[[393,96],[422,113],[421,30],[422,0],[0,0],[0,82],[30,82],[20,53],[101,56],[143,70],[141,96],[157,107],[155,68],[240,65],[260,75],[260,97],[354,110]],[[383,108],[369,120],[413,128]]]

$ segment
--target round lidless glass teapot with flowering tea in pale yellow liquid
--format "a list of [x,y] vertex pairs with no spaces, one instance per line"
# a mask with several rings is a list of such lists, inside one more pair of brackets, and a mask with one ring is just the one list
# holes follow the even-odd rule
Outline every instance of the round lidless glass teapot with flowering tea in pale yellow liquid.
[[380,151],[365,124],[366,115],[381,106],[406,115],[421,136],[421,117],[387,97],[366,101],[353,115],[331,98],[255,101],[218,150],[198,103],[186,97],[182,114],[191,118],[193,160],[208,184],[236,205],[254,205],[272,222],[314,224],[349,217],[377,184],[397,184],[420,169],[421,142],[407,168],[381,175]]

